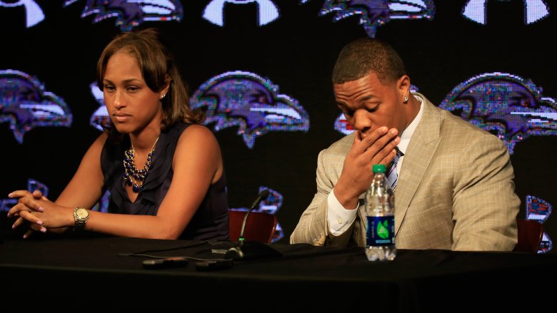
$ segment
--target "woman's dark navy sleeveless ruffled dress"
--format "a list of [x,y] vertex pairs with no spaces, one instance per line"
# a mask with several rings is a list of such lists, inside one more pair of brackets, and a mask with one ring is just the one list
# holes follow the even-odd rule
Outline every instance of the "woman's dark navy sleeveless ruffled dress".
[[[106,140],[101,153],[101,168],[104,174],[104,190],[110,191],[108,211],[111,213],[156,215],[164,196],[169,191],[174,170],[172,160],[181,133],[191,124],[179,123],[161,132],[155,147],[153,168],[135,202],[129,200],[124,181],[124,152],[130,148],[129,136],[120,143]],[[144,165],[136,165],[143,168]],[[186,194],[188,190],[184,190]],[[207,194],[194,217],[179,239],[228,240],[229,204],[224,172],[216,183],[209,187]]]

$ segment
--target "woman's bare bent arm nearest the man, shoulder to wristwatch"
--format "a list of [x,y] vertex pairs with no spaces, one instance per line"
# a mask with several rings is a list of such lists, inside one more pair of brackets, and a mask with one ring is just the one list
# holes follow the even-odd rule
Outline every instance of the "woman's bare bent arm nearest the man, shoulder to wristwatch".
[[186,128],[176,145],[172,166],[174,176],[156,216],[94,211],[90,212],[86,229],[125,237],[178,238],[211,183],[223,174],[221,150],[211,130],[202,125]]

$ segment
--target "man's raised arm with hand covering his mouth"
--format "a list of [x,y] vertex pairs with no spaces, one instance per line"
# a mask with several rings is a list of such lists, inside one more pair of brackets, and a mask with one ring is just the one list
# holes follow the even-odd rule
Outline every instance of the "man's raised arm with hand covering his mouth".
[[[394,148],[400,142],[396,128],[390,130],[379,127],[366,138],[356,131],[331,147],[321,151],[317,158],[317,193],[303,212],[296,229],[292,232],[291,243],[311,243],[312,245],[346,245],[352,234],[353,219],[341,220],[341,224],[352,225],[340,235],[332,235],[328,227],[327,197],[334,189],[336,201],[342,207],[354,210],[358,207],[358,197],[369,188],[373,164],[387,164],[393,160]],[[332,208],[338,210],[339,208]],[[354,215],[356,212],[354,212]],[[353,215],[353,216],[354,216]],[[343,225],[335,228],[345,229]],[[336,234],[336,232],[335,232]]]

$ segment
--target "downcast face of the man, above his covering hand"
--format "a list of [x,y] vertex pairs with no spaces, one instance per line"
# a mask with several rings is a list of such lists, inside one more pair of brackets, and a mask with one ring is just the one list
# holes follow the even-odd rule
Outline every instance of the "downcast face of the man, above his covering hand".
[[346,120],[361,133],[361,138],[381,126],[406,128],[406,112],[403,104],[407,76],[383,85],[376,73],[370,73],[356,81],[333,84],[336,105]]

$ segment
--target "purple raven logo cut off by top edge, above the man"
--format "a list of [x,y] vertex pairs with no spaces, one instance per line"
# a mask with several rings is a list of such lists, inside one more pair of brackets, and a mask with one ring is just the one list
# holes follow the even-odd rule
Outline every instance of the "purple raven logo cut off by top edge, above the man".
[[368,36],[375,37],[378,26],[394,19],[433,19],[435,5],[433,0],[326,0],[319,15],[331,12],[333,21],[359,15]]

